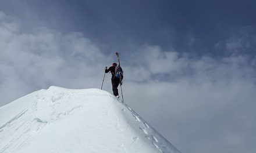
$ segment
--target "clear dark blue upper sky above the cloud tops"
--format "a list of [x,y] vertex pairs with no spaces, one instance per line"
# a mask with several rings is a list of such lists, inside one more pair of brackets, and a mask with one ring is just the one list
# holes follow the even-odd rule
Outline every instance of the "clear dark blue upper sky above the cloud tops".
[[[79,31],[107,49],[150,43],[195,54],[223,54],[215,45],[245,31],[255,35],[253,1],[3,1],[26,27]],[[11,5],[10,5],[11,4]],[[27,9],[30,8],[30,9]],[[244,30],[241,30],[244,28]],[[30,29],[30,28],[29,28]],[[247,36],[244,36],[247,37]],[[113,44],[115,42],[115,44]],[[251,44],[255,46],[255,42]],[[252,49],[251,47],[250,49]],[[246,52],[253,53],[250,49]]]

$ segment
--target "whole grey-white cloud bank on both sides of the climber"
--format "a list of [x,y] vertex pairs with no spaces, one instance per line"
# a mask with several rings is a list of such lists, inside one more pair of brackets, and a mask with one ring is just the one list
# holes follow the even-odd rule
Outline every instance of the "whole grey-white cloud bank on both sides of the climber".
[[[51,85],[99,88],[115,61],[81,32],[20,26],[0,12],[0,105]],[[256,150],[256,59],[237,53],[244,45],[233,38],[223,42],[234,54],[194,57],[150,44],[120,54],[125,102],[182,152]],[[112,92],[110,75],[104,89]]]

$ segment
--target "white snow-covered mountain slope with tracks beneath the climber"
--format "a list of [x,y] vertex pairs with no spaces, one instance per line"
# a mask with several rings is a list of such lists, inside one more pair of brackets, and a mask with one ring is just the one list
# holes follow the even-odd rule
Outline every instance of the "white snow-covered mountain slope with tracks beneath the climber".
[[0,152],[179,152],[99,89],[55,86],[0,108]]

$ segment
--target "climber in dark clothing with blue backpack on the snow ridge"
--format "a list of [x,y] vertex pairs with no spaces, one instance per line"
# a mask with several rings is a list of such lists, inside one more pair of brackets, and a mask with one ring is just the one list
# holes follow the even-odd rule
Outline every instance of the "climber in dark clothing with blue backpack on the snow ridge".
[[111,67],[105,67],[105,73],[111,72],[111,83],[112,83],[112,90],[113,94],[116,97],[119,97],[118,94],[118,85],[122,85],[122,79],[123,79],[123,70],[120,66],[118,66],[116,63],[113,63]]

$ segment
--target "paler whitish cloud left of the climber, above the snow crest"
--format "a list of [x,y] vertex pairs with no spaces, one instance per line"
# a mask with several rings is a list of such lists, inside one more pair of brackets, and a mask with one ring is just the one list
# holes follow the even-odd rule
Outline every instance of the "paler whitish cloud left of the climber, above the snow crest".
[[[2,104],[49,85],[82,88],[94,86],[98,71],[112,60],[79,32],[61,34],[48,28],[25,33],[1,13],[0,70]],[[100,61],[100,62],[99,62]]]

